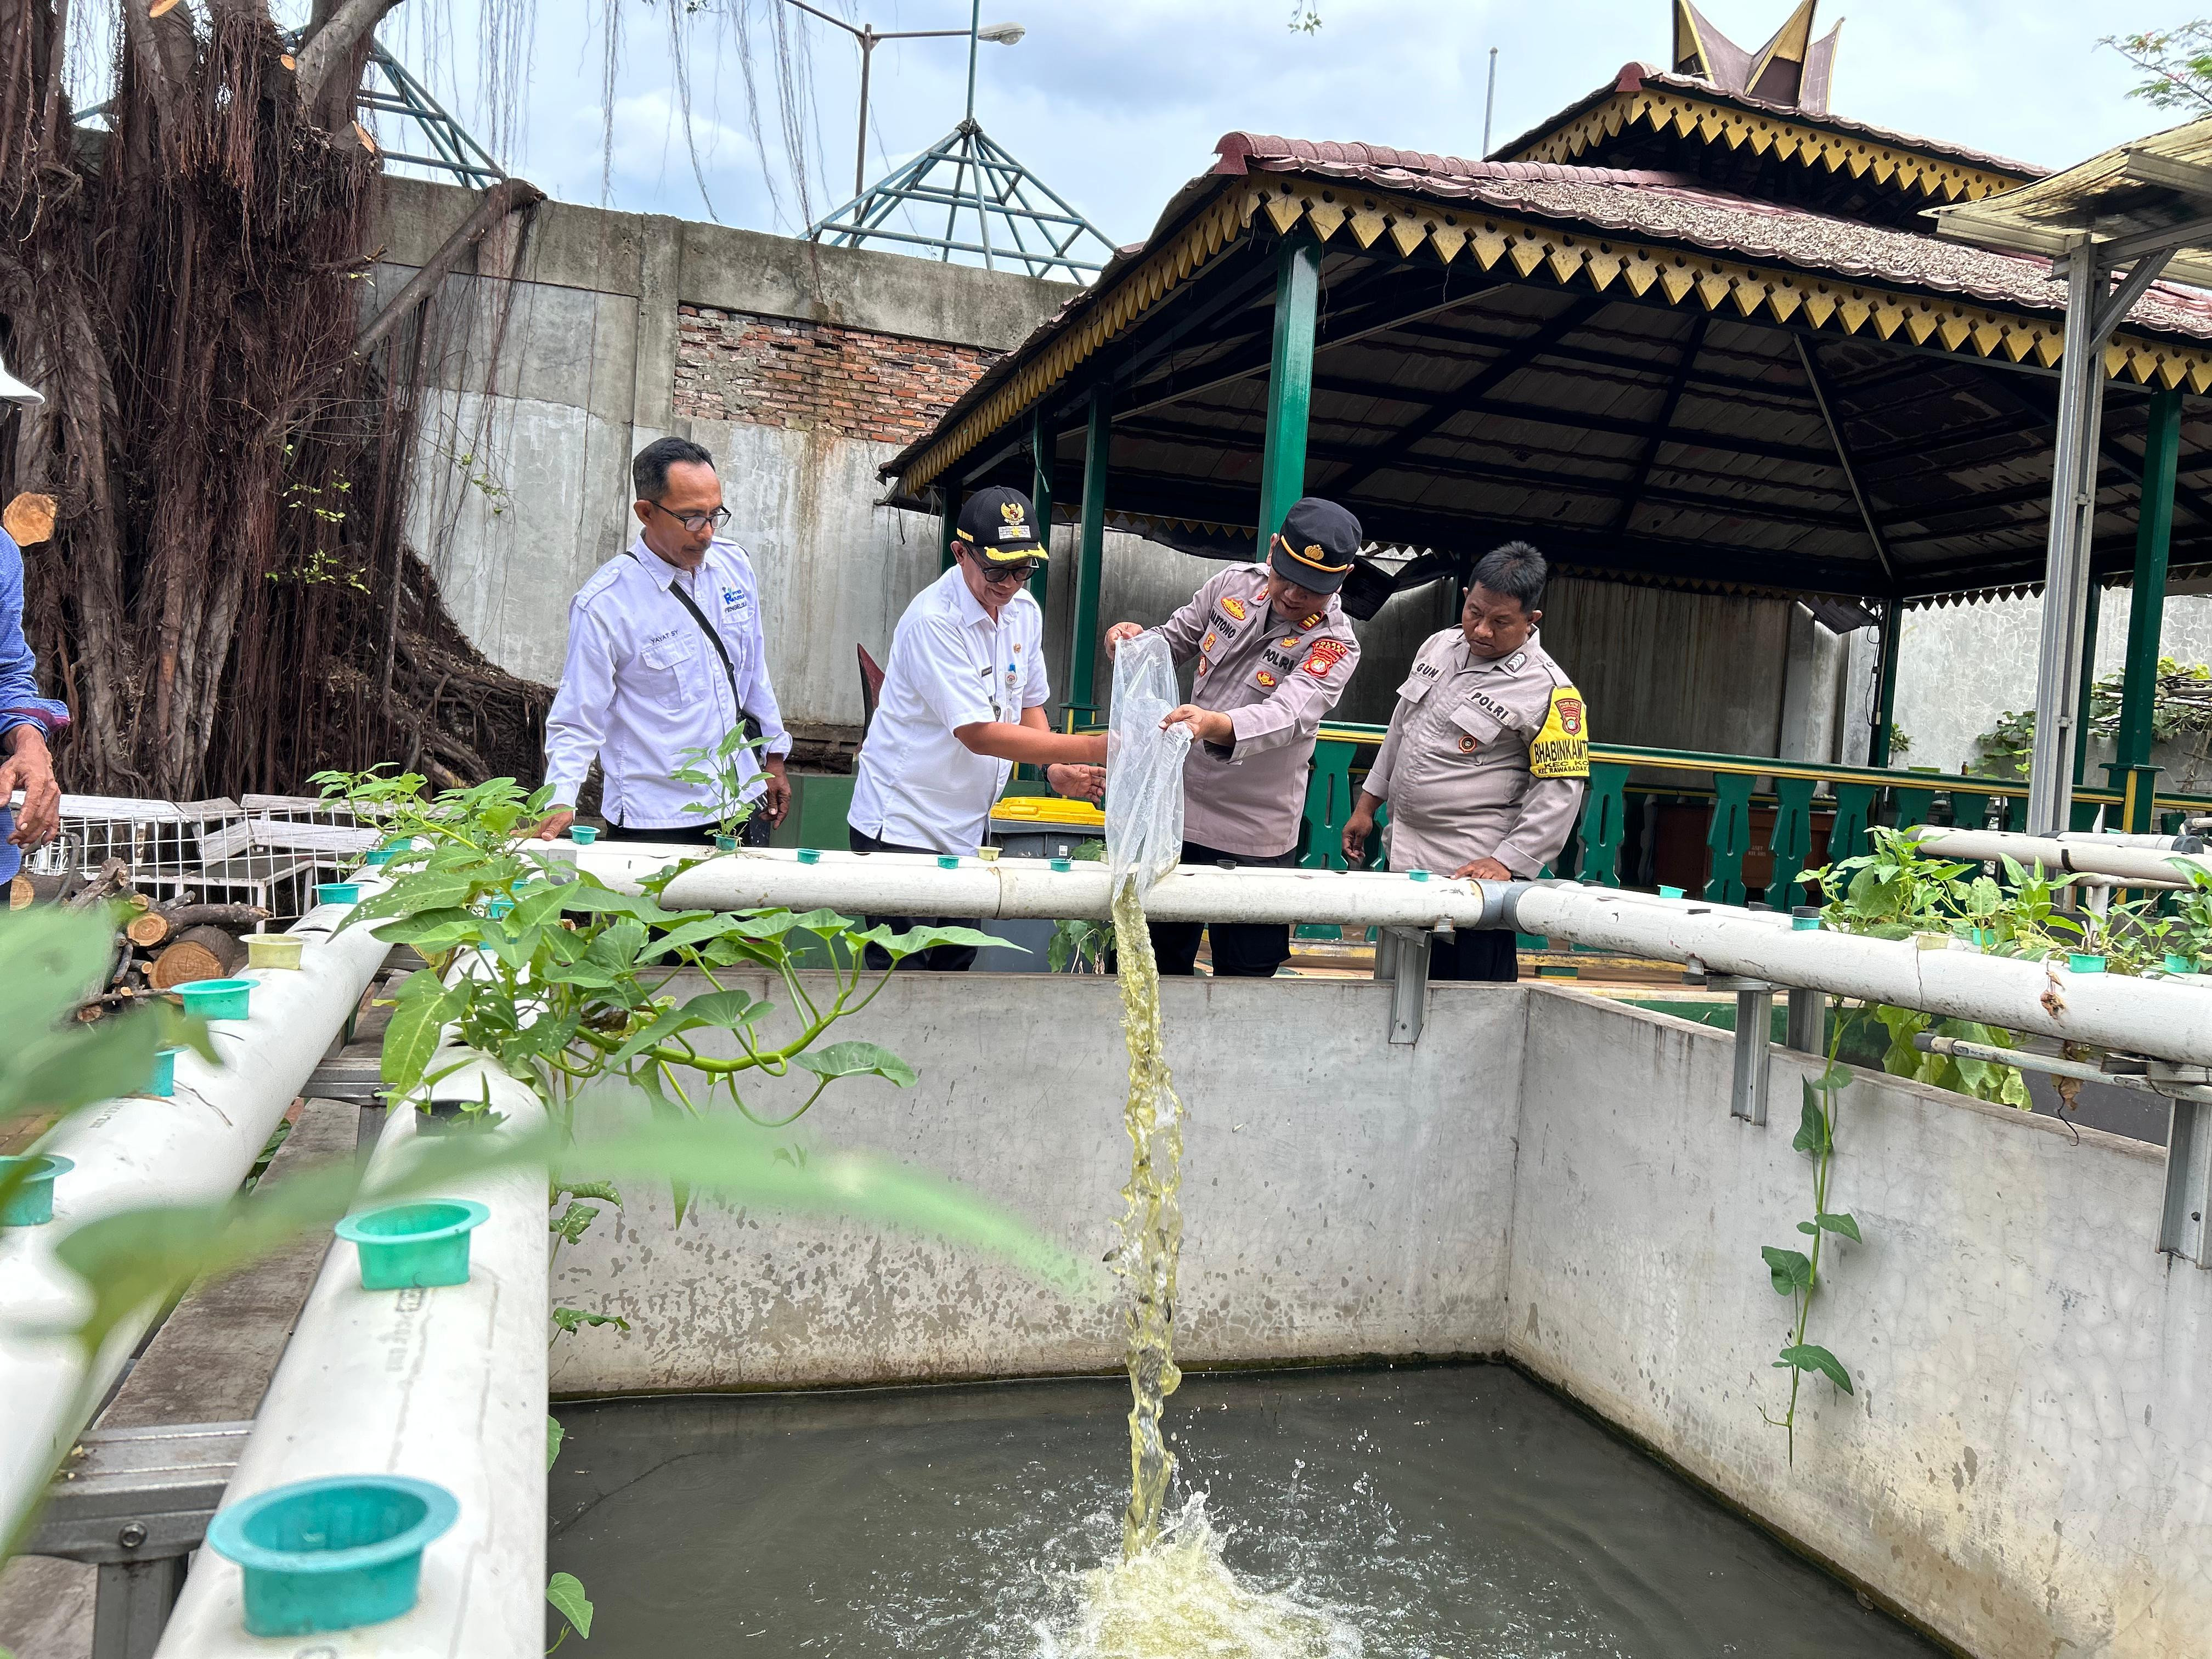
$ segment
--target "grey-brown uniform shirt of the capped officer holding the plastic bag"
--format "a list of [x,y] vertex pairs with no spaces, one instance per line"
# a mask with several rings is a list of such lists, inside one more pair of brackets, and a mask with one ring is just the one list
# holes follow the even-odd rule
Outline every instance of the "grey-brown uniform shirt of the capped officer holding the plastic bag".
[[1175,661],[1199,659],[1190,701],[1230,717],[1230,743],[1183,761],[1183,836],[1276,858],[1298,845],[1321,717],[1345,695],[1360,641],[1336,595],[1321,611],[1267,608],[1267,566],[1232,564],[1159,624]]

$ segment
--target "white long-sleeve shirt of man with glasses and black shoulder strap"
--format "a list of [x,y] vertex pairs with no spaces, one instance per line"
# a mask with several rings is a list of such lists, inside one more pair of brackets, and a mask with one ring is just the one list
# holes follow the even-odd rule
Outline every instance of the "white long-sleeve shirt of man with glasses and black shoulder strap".
[[[763,752],[792,752],[768,681],[759,584],[745,549],[717,540],[699,568],[686,573],[639,538],[568,602],[568,659],[546,714],[546,783],[555,805],[575,805],[597,757],[611,821],[630,830],[697,830],[708,821],[684,807],[710,805],[710,794],[668,774],[686,765],[684,750],[710,750],[730,734],[739,701],[714,646],[670,593],[679,582],[730,653],[737,699],[761,723]],[[739,770],[748,774],[745,799],[759,796],[763,779],[750,754]]]

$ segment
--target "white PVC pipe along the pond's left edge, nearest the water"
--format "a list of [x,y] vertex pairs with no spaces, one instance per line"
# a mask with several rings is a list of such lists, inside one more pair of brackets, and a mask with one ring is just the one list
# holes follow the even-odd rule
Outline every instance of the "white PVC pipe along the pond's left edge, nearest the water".
[[[460,1060],[449,1048],[431,1062]],[[544,1126],[538,1097],[473,1060],[434,1099],[482,1099],[504,1121],[469,1135]],[[392,1113],[372,1179],[414,1141],[422,1115]],[[469,1283],[363,1290],[354,1245],[336,1243],[301,1310],[254,1416],[223,1502],[323,1475],[414,1475],[460,1500],[460,1520],[422,1553],[411,1613],[361,1630],[285,1641],[246,1635],[239,1568],[192,1557],[157,1659],[376,1655],[378,1659],[538,1659],[546,1588],[546,1172],[511,1168],[440,1188],[491,1219],[469,1237]]]

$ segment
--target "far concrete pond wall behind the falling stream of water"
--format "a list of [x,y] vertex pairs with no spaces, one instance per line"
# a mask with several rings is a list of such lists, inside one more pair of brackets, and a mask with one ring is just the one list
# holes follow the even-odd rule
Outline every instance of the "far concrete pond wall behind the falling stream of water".
[[[838,1084],[776,1141],[869,1148],[936,1170],[1099,1261],[1115,1248],[1128,1181],[1119,987],[1095,975],[989,984],[894,975],[852,1035],[865,1026],[920,1082]],[[1517,989],[1440,987],[1429,1035],[1391,1048],[1385,984],[1164,989],[1168,1060],[1190,1106],[1179,1358],[1498,1349],[1522,1002]],[[768,1110],[787,1093],[763,1086],[748,1104]],[[670,1228],[666,1192],[630,1190],[619,1217],[564,1248],[553,1298],[633,1325],[562,1338],[562,1394],[1121,1363],[1115,1307],[1071,1305],[971,1252],[858,1221],[717,1206]]]

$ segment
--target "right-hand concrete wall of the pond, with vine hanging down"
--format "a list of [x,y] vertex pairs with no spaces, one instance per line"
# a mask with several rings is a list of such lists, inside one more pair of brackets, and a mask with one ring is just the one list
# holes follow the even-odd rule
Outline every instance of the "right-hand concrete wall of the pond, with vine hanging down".
[[1851,1371],[1778,1411],[1812,1161],[1728,1115],[1732,1040],[1528,1004],[1506,1352],[1975,1655],[2183,1659],[2212,1586],[2212,1274],[2154,1252],[2154,1146],[1858,1073],[1809,1340]]

